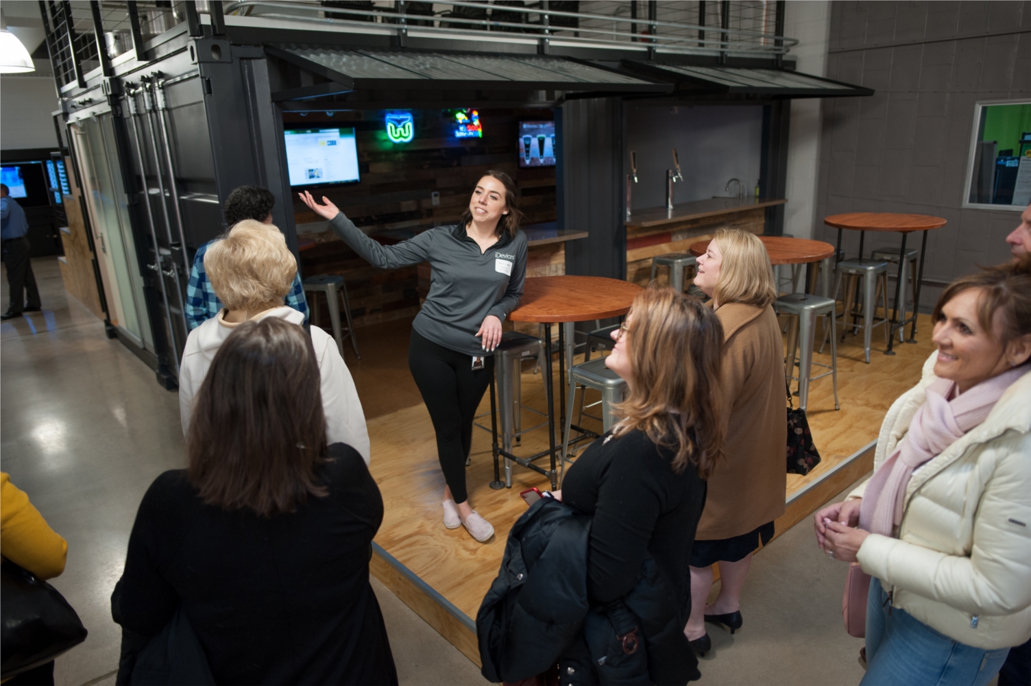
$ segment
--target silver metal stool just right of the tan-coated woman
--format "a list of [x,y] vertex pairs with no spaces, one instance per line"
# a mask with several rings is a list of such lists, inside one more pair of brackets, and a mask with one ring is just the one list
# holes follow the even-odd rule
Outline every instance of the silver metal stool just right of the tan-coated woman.
[[[809,383],[828,374],[834,377],[834,409],[841,409],[837,399],[837,336],[831,336],[831,364],[812,362],[812,346],[816,341],[817,317],[826,316],[828,324],[834,321],[837,303],[830,298],[807,296],[803,293],[793,293],[781,296],[773,302],[773,309],[778,314],[798,317],[797,328],[792,325],[788,333],[788,356],[785,358],[785,370],[789,381],[798,379],[799,406],[804,410],[809,401]],[[830,329],[830,325],[826,327]],[[795,377],[795,349],[801,348],[798,356],[798,377]],[[811,376],[812,366],[824,367],[829,372]]]

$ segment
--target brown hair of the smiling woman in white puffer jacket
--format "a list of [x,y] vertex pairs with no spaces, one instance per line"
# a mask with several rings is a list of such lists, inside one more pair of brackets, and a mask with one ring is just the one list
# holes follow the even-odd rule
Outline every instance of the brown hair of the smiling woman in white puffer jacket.
[[932,319],[937,321],[941,308],[970,288],[983,289],[977,322],[992,339],[997,336],[993,325],[995,313],[1001,314],[1002,335],[998,342],[1003,348],[1015,338],[1031,334],[1031,255],[956,279],[938,296]]

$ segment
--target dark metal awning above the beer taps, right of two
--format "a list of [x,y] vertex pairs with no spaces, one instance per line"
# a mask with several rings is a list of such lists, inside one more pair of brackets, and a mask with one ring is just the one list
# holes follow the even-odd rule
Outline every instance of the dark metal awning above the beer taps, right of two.
[[635,74],[669,81],[677,92],[768,98],[838,98],[873,95],[872,89],[789,69],[697,66],[624,60]]

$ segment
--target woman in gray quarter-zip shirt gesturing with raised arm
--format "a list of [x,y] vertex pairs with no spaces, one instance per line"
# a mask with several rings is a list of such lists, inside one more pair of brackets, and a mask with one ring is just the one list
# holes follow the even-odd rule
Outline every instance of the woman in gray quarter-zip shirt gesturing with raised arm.
[[480,543],[494,527],[469,505],[465,460],[472,420],[494,374],[501,322],[519,305],[526,279],[526,234],[519,230],[516,183],[489,171],[476,183],[457,226],[437,227],[397,245],[380,245],[343,212],[310,193],[301,200],[329,219],[334,233],[381,269],[429,262],[430,293],[411,322],[408,368],[437,435],[444,474],[444,526],[464,525]]

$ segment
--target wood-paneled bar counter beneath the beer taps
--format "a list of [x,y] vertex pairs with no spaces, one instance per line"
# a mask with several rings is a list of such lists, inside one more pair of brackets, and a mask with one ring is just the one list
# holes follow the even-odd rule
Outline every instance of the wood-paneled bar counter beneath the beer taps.
[[631,212],[627,228],[627,280],[647,285],[652,258],[667,252],[687,252],[688,246],[712,237],[722,227],[761,234],[766,208],[788,202],[776,198],[709,198]]

